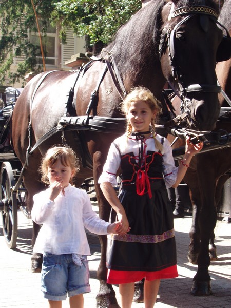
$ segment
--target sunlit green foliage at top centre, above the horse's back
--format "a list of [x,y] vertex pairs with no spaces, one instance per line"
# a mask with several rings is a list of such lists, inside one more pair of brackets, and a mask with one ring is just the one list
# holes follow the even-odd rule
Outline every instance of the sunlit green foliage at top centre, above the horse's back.
[[52,16],[61,20],[61,35],[68,26],[79,36],[89,36],[90,45],[99,41],[108,44],[118,28],[141,7],[141,1],[62,0],[54,7]]

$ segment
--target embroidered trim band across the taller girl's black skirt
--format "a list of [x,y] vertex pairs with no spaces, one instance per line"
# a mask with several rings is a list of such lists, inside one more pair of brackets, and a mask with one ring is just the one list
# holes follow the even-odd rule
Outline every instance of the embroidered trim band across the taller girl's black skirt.
[[145,244],[156,244],[173,238],[175,236],[175,230],[171,229],[163,234],[158,235],[137,235],[137,234],[109,234],[107,236],[108,239],[114,241],[121,241],[121,242],[130,242],[130,243],[145,243]]

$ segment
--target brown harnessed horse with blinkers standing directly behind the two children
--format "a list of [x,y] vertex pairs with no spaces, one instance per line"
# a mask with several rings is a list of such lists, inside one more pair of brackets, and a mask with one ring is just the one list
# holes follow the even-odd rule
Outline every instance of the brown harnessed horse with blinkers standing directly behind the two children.
[[[183,100],[191,127],[215,128],[220,110],[215,66],[223,42],[216,22],[218,13],[217,1],[150,1],[120,28],[98,58],[79,72],[44,72],[26,85],[13,111],[12,141],[22,164],[28,162],[23,181],[29,209],[33,206],[32,196],[44,189],[37,172],[41,157],[51,145],[65,139],[82,162],[75,184],[80,185],[93,175],[100,217],[109,219],[111,207],[102,195],[98,178],[110,143],[121,131],[117,126],[100,131],[89,128],[89,124],[92,115],[93,119],[102,120],[98,123],[122,118],[120,102],[133,86],[145,86],[161,100],[167,81]],[[66,91],[75,84],[77,76],[73,87],[75,107],[70,99],[66,110]],[[78,117],[73,117],[71,124],[81,122],[85,126],[66,129],[60,119],[68,112],[74,115],[74,109]],[[28,155],[28,149],[44,134],[47,138]],[[34,224],[33,243],[38,229]],[[100,237],[100,243],[98,306],[118,307],[113,288],[106,283],[105,236]],[[42,256],[34,254],[32,259],[33,271],[39,271]]]

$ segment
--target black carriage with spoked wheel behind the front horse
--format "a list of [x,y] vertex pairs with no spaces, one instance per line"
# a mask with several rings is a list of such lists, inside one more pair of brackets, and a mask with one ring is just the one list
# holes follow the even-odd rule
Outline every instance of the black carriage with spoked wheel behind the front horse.
[[5,89],[0,114],[0,210],[3,222],[3,234],[9,248],[14,248],[17,240],[17,211],[20,208],[26,217],[30,213],[26,207],[26,189],[20,183],[17,193],[13,193],[17,179],[20,177],[22,164],[16,157],[10,144],[10,119],[14,105],[22,89],[7,87]]

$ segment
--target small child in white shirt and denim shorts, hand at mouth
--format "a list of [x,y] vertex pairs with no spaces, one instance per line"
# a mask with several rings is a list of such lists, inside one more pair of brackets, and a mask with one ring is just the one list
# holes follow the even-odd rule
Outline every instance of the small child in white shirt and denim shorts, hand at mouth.
[[71,148],[50,148],[41,171],[42,181],[50,186],[34,195],[31,215],[33,221],[43,224],[33,249],[43,253],[42,291],[49,307],[62,307],[68,292],[70,307],[81,308],[83,293],[90,292],[86,257],[90,249],[84,227],[100,235],[124,232],[121,223],[110,224],[99,219],[87,193],[71,186],[78,171]]

